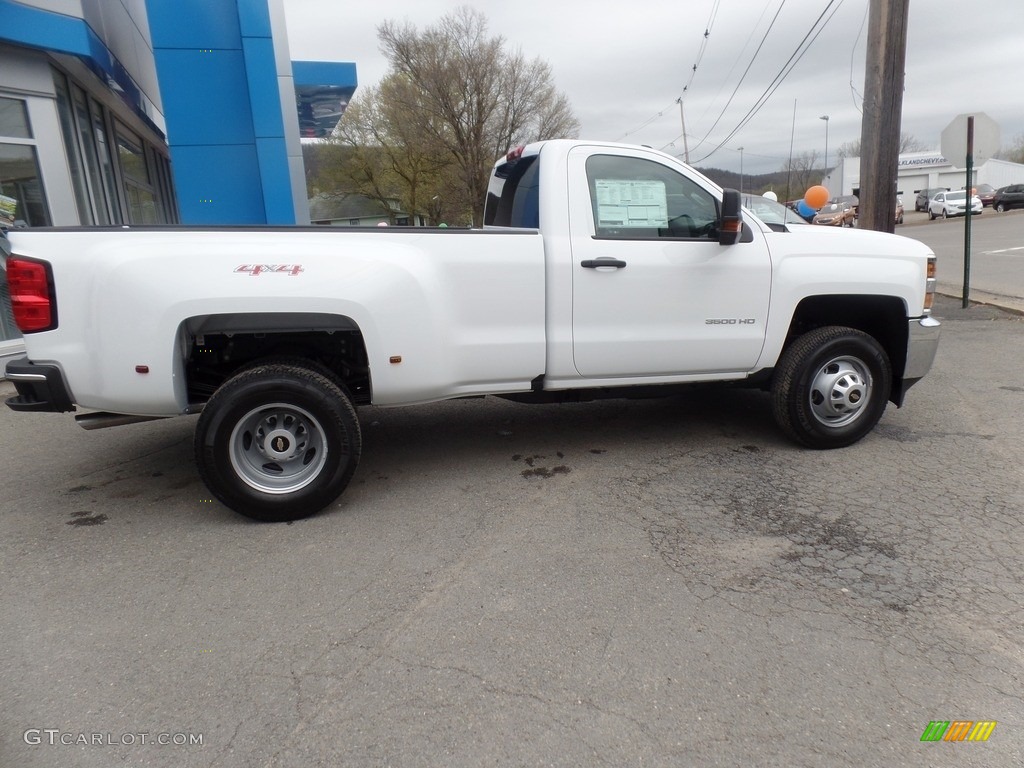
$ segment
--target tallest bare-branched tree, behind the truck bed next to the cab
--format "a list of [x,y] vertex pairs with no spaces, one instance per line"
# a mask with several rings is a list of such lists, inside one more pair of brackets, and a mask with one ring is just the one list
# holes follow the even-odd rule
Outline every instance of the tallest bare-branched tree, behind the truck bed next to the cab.
[[[409,88],[386,95],[388,109],[420,132],[430,153],[443,152],[474,224],[483,218],[490,166],[515,143],[574,135],[579,123],[556,91],[551,69],[508,53],[487,34],[480,12],[463,6],[422,32],[385,22],[377,30],[392,76]],[[343,121],[344,122],[344,121]]]

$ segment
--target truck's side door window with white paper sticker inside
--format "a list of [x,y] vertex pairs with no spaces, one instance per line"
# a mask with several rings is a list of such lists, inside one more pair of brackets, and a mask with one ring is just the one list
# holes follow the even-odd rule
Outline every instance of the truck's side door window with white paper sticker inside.
[[640,158],[595,155],[587,160],[598,238],[718,239],[718,202],[671,168]]

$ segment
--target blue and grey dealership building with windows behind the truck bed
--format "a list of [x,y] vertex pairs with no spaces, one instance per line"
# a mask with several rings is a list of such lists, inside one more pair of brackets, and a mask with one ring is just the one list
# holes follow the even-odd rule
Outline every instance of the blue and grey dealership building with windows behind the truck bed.
[[283,0],[0,0],[0,225],[308,223],[300,137],[355,87],[291,60]]

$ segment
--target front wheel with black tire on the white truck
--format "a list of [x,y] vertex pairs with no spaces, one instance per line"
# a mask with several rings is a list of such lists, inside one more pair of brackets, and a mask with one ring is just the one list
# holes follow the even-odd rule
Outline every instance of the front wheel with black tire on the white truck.
[[892,366],[871,336],[852,328],[810,331],[782,353],[772,413],[782,430],[813,449],[851,445],[874,428],[892,388]]

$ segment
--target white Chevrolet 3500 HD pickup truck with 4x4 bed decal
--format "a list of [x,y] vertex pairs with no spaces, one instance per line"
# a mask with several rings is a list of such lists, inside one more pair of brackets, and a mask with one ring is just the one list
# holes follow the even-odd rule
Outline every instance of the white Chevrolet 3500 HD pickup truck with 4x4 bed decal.
[[273,521],[342,493],[367,403],[746,383],[794,439],[849,445],[931,368],[935,256],[755,200],[558,140],[495,164],[482,230],[12,230],[7,404],[95,410],[87,428],[201,413],[210,490]]

